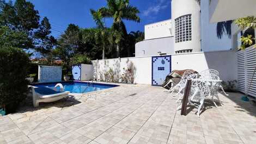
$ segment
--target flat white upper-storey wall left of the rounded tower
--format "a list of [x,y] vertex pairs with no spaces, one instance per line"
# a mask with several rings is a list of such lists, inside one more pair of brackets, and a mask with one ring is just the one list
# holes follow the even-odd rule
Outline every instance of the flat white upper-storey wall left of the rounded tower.
[[145,25],[145,40],[172,36],[172,20],[166,20]]

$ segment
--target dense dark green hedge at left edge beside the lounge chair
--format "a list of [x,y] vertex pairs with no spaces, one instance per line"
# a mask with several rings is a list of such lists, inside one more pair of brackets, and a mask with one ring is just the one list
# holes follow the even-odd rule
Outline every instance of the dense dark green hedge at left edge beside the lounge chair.
[[26,98],[29,58],[19,48],[0,48],[0,105],[7,113],[15,112]]

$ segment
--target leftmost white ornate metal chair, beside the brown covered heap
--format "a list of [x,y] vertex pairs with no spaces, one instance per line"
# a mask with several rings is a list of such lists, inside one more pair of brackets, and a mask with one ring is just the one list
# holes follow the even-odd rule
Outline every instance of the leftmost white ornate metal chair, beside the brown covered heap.
[[[176,95],[174,95],[174,96],[179,95],[179,94],[184,90],[184,88],[186,87],[186,84],[187,84],[187,77],[188,77],[190,74],[192,74],[192,73],[193,73],[193,72],[190,71],[190,70],[185,71],[184,74],[183,74],[183,76],[182,76],[182,78],[181,78],[181,80],[180,80],[180,82],[179,82],[178,84],[176,84],[175,86],[173,86],[172,88],[170,88],[170,90],[169,90],[170,94],[172,95],[175,90],[178,90],[178,92],[177,92]],[[179,99],[178,99],[178,100],[179,100]]]

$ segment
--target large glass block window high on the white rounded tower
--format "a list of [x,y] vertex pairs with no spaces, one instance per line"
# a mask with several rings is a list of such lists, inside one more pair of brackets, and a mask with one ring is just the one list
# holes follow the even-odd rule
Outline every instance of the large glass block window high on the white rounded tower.
[[191,14],[175,19],[175,42],[192,40]]

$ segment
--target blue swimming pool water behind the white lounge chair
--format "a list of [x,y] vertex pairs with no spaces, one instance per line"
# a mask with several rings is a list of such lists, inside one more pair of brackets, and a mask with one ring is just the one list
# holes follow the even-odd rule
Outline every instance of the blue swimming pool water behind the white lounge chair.
[[[88,84],[87,82],[56,82],[56,83],[36,83],[36,84],[31,84],[36,87],[50,87],[54,88],[56,84],[62,84],[64,86],[65,91],[70,91],[71,93],[86,93],[86,92],[91,92],[91,91],[98,91],[98,90],[103,90],[103,89],[109,89],[112,87],[117,87],[119,85],[113,85],[113,84],[99,84],[99,83],[90,83]],[[88,86],[90,85],[90,86]],[[93,86],[92,86],[93,85]]]

